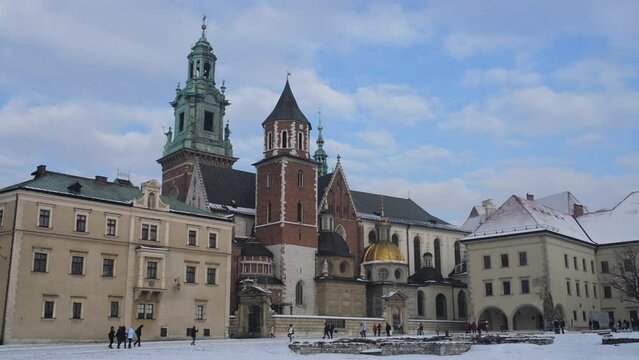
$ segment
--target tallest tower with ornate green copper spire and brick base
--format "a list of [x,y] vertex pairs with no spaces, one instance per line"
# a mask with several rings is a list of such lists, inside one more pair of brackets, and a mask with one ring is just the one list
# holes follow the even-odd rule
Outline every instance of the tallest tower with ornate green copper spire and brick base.
[[162,193],[185,201],[196,161],[221,167],[232,167],[237,158],[229,139],[228,122],[224,126],[226,107],[225,86],[215,83],[217,57],[206,39],[206,25],[202,36],[187,56],[187,77],[184,87],[178,83],[175,99],[171,101],[174,126],[165,133],[162,158]]

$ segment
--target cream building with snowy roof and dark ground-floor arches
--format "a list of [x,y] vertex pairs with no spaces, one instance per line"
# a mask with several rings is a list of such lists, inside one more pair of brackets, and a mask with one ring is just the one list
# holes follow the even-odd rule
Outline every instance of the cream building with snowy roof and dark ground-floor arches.
[[608,317],[637,318],[637,304],[611,292],[601,270],[602,262],[613,266],[620,250],[637,246],[639,193],[585,214],[570,193],[558,195],[512,196],[462,240],[474,320],[520,330],[548,328],[554,319],[587,328],[591,320],[605,327]]

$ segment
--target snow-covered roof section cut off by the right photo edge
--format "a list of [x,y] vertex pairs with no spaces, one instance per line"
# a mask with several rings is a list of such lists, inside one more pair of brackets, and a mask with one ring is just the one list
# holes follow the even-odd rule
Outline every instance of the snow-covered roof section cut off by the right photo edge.
[[639,191],[610,210],[584,214],[577,221],[598,244],[639,241]]

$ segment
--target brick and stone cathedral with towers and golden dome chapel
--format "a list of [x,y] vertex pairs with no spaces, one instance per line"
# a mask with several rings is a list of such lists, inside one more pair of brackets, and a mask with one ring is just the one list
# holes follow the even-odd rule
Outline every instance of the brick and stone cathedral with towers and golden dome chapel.
[[329,171],[322,123],[313,151],[313,125],[288,79],[271,113],[255,119],[264,139],[255,171],[233,168],[224,121],[230,102],[215,81],[217,57],[205,30],[187,57],[186,83],[175,90],[174,126],[158,163],[163,195],[235,224],[230,312],[237,329],[229,331],[266,336],[278,314],[324,316],[338,328],[343,317],[375,318],[400,332],[416,326],[409,322],[465,321],[459,240],[468,232],[409,198],[351,189],[339,156]]

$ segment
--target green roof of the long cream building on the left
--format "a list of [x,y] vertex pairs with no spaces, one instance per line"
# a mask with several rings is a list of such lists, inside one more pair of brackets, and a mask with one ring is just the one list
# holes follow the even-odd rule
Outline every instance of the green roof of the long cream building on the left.
[[[73,188],[79,191],[73,191]],[[143,196],[142,191],[139,188],[130,185],[130,182],[128,181],[117,181],[116,179],[114,182],[101,183],[95,179],[54,171],[46,171],[45,175],[0,189],[0,193],[19,189],[69,196],[78,199],[116,203],[126,206],[132,206],[134,200],[140,199]],[[222,219],[212,215],[208,211],[173,200],[167,196],[160,196],[160,199],[165,204],[169,205],[171,212]]]

